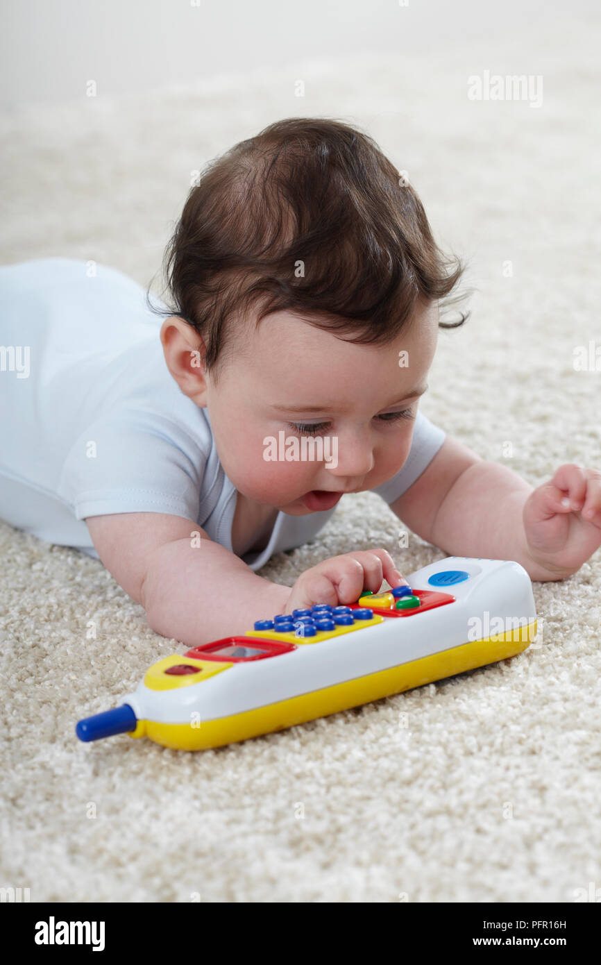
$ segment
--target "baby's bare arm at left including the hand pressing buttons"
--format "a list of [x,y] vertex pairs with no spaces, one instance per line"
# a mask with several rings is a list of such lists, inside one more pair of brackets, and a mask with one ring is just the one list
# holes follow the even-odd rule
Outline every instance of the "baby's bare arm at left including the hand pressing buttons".
[[255,620],[314,603],[354,603],[364,589],[405,582],[385,549],[342,553],[305,570],[293,587],[257,576],[196,523],[158,512],[86,519],[98,556],[146,610],[150,628],[189,647],[245,633]]

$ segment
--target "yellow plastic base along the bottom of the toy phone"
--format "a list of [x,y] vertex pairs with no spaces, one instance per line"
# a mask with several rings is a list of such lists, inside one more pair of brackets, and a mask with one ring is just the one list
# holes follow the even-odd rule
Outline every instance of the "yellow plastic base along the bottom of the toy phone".
[[287,701],[269,703],[232,717],[202,721],[200,727],[192,724],[138,721],[136,730],[131,731],[129,736],[147,736],[157,744],[182,751],[222,747],[224,744],[257,737],[263,733],[283,731],[317,717],[327,717],[349,707],[400,694],[413,687],[422,687],[433,680],[442,680],[447,676],[505,660],[525,650],[535,636],[536,620],[533,620],[528,626],[442,650],[440,653],[378,671],[376,674],[356,677],[333,687],[314,690]]

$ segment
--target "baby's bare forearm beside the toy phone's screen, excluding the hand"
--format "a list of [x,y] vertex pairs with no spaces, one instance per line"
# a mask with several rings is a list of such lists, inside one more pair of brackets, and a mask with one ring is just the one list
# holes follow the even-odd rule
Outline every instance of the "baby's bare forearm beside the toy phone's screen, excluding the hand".
[[258,576],[189,519],[120,512],[86,523],[100,560],[156,633],[200,647],[284,612],[290,587]]

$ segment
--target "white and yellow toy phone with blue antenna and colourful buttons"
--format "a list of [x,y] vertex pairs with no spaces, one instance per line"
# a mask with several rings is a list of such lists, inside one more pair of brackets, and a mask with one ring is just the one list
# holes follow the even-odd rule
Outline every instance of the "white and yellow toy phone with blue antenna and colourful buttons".
[[449,557],[407,582],[164,657],[122,706],[79,721],[77,736],[220,747],[505,660],[536,635],[532,583],[518,563]]

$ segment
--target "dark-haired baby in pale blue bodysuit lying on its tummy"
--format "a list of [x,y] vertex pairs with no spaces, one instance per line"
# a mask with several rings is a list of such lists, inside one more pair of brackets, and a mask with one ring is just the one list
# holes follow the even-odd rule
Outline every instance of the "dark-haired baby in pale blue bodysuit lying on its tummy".
[[382,548],[291,589],[257,575],[342,493],[533,580],[597,549],[601,473],[569,463],[533,489],[419,412],[463,267],[367,135],[292,118],[235,145],[166,255],[171,306],[94,263],[0,269],[0,515],[99,558],[158,633],[195,647],[404,582]]

